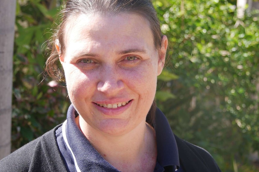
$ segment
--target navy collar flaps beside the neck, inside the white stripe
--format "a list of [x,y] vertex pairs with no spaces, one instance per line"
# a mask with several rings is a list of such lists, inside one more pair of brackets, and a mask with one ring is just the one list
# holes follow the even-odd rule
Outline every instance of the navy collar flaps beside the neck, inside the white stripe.
[[[97,170],[118,172],[116,168],[103,159],[84,137],[83,133],[81,133],[75,123],[75,114],[77,115],[75,108],[72,105],[69,106],[67,112],[66,136],[81,171]],[[154,129],[157,138],[157,161],[163,167],[176,166],[179,168],[178,148],[174,134],[165,115],[158,108],[156,109]],[[88,154],[86,155],[85,151],[82,150],[87,150]],[[92,165],[87,165],[86,167],[85,164]]]

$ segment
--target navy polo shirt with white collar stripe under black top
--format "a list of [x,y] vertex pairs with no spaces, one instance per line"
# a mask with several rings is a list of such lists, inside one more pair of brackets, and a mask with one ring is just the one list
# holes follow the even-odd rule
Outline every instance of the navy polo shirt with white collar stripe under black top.
[[[119,172],[95,150],[79,130],[75,123],[76,115],[77,112],[71,105],[67,112],[67,120],[56,130],[58,147],[68,171]],[[175,137],[166,117],[158,108],[154,128],[157,138],[157,163],[154,172],[184,172],[180,168]]]

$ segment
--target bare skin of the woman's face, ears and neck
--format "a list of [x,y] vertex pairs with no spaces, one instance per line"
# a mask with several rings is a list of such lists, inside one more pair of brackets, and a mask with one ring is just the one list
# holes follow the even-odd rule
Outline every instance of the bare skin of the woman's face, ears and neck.
[[[167,38],[154,47],[148,22],[136,14],[84,15],[66,26],[63,66],[78,127],[121,171],[154,171],[154,130],[145,122],[163,69]],[[97,104],[129,101],[108,109]],[[120,160],[118,160],[120,159]]]

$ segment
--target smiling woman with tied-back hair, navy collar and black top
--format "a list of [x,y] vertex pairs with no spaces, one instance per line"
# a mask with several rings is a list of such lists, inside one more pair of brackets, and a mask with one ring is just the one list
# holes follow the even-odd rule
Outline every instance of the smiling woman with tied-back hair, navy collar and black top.
[[67,120],[3,159],[1,171],[220,171],[156,108],[168,42],[150,0],[69,0],[62,15],[46,70],[60,77],[62,64]]

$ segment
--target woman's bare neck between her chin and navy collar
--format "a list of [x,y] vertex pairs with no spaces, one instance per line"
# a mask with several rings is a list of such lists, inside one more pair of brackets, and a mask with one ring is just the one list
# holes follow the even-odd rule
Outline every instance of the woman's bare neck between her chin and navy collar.
[[145,121],[120,136],[97,131],[81,117],[77,125],[100,155],[118,170],[154,171],[157,158],[155,132]]

